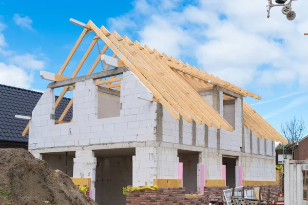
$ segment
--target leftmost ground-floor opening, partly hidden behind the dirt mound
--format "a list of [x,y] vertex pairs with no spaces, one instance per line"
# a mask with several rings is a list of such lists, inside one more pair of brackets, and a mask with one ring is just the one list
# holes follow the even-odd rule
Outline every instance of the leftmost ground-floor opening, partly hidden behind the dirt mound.
[[52,170],[60,170],[69,177],[73,177],[73,164],[75,152],[53,152],[43,154],[43,160],[47,161]]

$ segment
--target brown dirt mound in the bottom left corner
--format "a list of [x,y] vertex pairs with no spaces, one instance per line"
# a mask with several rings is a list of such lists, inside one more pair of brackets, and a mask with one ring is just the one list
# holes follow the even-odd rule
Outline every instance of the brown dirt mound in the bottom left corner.
[[24,149],[0,149],[0,204],[97,205],[67,175]]

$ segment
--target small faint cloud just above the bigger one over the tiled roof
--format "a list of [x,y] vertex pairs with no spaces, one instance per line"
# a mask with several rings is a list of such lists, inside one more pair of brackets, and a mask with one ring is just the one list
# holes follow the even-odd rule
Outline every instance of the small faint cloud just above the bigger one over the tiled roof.
[[42,60],[37,60],[36,55],[32,54],[24,54],[24,55],[16,55],[9,58],[9,63],[20,66],[26,69],[33,69],[33,70],[42,70],[45,68],[45,62]]

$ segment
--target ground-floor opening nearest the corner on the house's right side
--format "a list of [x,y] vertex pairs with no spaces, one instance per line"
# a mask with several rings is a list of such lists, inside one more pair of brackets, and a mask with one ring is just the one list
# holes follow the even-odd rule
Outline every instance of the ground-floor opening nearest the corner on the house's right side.
[[183,163],[183,187],[186,189],[186,194],[189,194],[189,191],[196,193],[199,152],[178,150],[178,157]]

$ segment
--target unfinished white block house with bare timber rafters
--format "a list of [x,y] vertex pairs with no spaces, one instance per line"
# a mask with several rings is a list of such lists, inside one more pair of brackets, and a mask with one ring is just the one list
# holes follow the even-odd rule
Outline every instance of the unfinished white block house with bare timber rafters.
[[[196,204],[233,184],[263,186],[266,193],[273,189],[271,197],[277,199],[275,141],[286,139],[243,100],[260,96],[104,26],[99,29],[91,20],[71,21],[84,30],[57,74],[41,72],[53,82],[25,126],[35,157],[89,186],[99,204]],[[71,77],[63,76],[85,35],[92,35],[92,43]],[[105,46],[83,66],[98,40]],[[80,70],[87,75],[77,77]],[[55,88],[63,88],[56,100]],[[73,97],[55,121],[66,92]],[[72,120],[65,122],[71,107]],[[158,185],[159,191],[147,191],[153,199],[123,195],[123,187],[146,185]],[[189,191],[199,198],[188,198]]]

